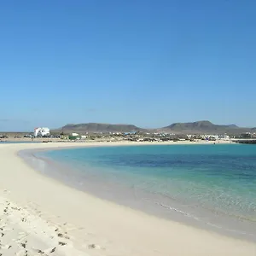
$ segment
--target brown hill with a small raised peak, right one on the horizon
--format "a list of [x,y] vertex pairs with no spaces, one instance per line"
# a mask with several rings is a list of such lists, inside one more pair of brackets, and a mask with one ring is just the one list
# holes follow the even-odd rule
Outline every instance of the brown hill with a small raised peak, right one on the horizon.
[[178,133],[241,133],[251,130],[236,125],[214,125],[207,120],[192,123],[174,123],[163,129]]

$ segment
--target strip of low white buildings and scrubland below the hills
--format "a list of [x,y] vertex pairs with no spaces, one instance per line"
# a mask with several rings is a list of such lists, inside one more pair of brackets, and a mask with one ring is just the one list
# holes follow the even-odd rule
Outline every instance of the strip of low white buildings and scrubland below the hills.
[[48,127],[37,127],[33,132],[2,132],[0,141],[34,141],[34,142],[247,142],[255,143],[256,133],[245,132],[240,134],[185,134],[173,132],[58,132],[50,131]]

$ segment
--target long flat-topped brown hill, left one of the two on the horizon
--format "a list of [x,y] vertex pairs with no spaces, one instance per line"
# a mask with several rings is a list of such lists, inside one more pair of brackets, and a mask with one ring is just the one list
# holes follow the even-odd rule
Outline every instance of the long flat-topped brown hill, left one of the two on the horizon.
[[87,123],[87,124],[68,124],[63,126],[58,131],[64,132],[130,132],[130,131],[143,131],[135,125],[111,125],[111,124],[99,124],[99,123]]

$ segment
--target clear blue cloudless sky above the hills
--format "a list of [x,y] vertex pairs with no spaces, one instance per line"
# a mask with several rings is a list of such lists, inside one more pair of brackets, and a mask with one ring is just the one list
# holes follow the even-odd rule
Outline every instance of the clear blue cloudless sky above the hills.
[[256,126],[256,1],[0,3],[0,131]]

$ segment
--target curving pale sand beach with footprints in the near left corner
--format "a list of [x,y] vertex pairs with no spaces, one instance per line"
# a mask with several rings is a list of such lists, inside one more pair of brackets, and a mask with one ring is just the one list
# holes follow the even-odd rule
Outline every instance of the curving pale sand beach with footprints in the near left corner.
[[45,177],[17,155],[32,148],[117,144],[0,144],[0,255],[256,255],[253,242],[103,201]]

